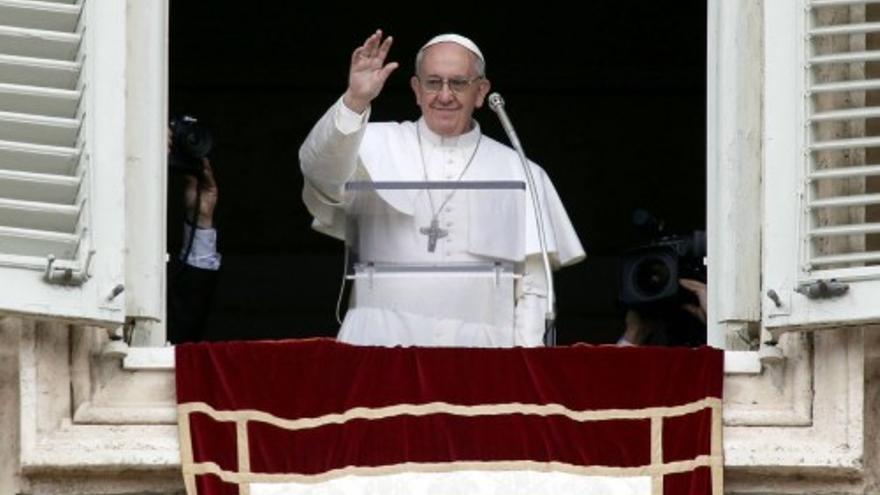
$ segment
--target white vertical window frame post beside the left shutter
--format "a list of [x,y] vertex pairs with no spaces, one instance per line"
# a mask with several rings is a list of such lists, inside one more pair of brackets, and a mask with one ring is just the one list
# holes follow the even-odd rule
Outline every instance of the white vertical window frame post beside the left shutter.
[[[168,11],[165,1],[129,2],[126,128],[126,313],[133,345],[165,344]],[[146,320],[150,320],[147,322]]]

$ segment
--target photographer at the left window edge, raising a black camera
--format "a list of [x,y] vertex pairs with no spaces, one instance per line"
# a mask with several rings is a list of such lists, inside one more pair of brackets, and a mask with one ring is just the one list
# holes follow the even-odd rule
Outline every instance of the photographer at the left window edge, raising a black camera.
[[178,344],[204,340],[221,257],[214,229],[217,182],[210,160],[198,156],[206,155],[210,145],[194,152],[192,139],[181,137],[180,129],[175,133],[173,124],[168,131],[169,165],[182,175],[185,219],[180,255],[169,263],[167,332],[168,340]]

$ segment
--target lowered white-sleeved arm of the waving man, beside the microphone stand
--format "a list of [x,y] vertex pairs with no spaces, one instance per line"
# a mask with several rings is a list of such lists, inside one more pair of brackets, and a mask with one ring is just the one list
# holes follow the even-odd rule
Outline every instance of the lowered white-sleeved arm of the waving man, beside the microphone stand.
[[516,283],[514,344],[523,347],[544,345],[547,316],[547,277],[540,255],[526,257],[523,276]]

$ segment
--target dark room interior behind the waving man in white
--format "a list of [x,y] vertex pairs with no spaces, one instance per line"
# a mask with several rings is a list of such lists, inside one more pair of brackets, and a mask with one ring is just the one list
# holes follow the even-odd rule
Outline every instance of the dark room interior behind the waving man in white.
[[[431,36],[458,32],[480,46],[527,155],[554,180],[588,252],[557,272],[559,341],[617,339],[619,255],[642,241],[633,209],[669,233],[705,228],[705,2],[597,1],[577,14],[513,5],[171,2],[169,110],[197,116],[215,139],[223,273],[212,340],[335,335],[342,246],[309,227],[297,150],[376,28],[394,36],[389,59],[401,67],[373,120],[418,118],[408,80]],[[507,142],[491,111],[476,118]]]

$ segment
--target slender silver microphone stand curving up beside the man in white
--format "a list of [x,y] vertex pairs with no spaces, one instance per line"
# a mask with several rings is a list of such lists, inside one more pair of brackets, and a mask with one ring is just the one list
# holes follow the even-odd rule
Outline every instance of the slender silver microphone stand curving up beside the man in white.
[[[532,168],[529,167],[529,161],[526,159],[526,153],[523,151],[522,144],[516,136],[513,124],[504,111],[504,99],[498,93],[489,95],[489,108],[498,114],[501,126],[507,133],[510,144],[519,154],[519,160],[523,166],[523,173],[526,176],[526,182],[529,185],[529,196],[532,198],[532,207],[535,211],[535,225],[538,228],[538,241],[541,246],[541,261],[544,265],[544,276],[547,278],[547,312],[544,314],[544,345],[553,347],[556,345],[556,292],[553,290],[553,271],[550,269],[550,257],[547,255],[547,240],[544,235],[544,214],[541,210],[541,202],[538,199],[538,188],[535,186],[535,177],[532,175]],[[528,255],[526,255],[528,256]]]

